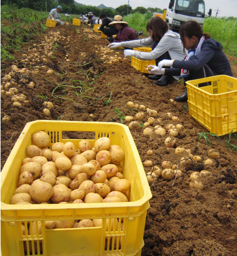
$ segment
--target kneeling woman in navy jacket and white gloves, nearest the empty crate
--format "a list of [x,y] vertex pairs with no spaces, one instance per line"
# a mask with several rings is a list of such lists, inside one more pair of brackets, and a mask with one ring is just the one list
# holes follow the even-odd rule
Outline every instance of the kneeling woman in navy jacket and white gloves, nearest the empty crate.
[[[184,48],[188,55],[184,60],[162,60],[158,67],[149,65],[147,70],[151,74],[179,75],[188,80],[202,79],[204,77],[226,75],[232,76],[230,62],[225,53],[222,52],[222,44],[210,38],[210,35],[203,34],[200,24],[194,20],[185,22],[179,34]],[[171,67],[172,68],[163,68]],[[205,83],[202,86],[206,86]],[[188,100],[187,90],[175,101],[185,102]]]

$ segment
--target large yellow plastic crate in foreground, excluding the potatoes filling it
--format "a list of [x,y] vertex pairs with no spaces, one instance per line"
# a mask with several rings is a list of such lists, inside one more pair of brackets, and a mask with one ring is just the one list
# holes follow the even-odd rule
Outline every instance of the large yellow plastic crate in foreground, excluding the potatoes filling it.
[[[108,137],[123,148],[121,162],[125,179],[131,183],[129,202],[84,204],[11,205],[10,198],[18,185],[22,159],[31,144],[32,134],[44,130],[54,142]],[[77,138],[77,139],[76,139]],[[1,172],[1,255],[141,255],[146,212],[151,191],[141,159],[128,126],[111,122],[33,121],[27,123]],[[46,229],[46,220],[82,220],[102,218],[102,226],[93,228]],[[116,218],[121,229],[111,224]],[[106,230],[105,222],[110,228]],[[41,230],[29,234],[33,224]],[[22,232],[22,224],[29,229]],[[32,249],[31,249],[32,248]],[[31,252],[32,250],[32,252]]]

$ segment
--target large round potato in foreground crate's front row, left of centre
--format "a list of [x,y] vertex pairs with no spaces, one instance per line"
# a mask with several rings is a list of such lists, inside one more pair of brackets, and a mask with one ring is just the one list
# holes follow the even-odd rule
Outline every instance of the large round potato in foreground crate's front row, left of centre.
[[37,181],[31,184],[29,195],[36,203],[46,202],[53,195],[53,187],[47,182]]

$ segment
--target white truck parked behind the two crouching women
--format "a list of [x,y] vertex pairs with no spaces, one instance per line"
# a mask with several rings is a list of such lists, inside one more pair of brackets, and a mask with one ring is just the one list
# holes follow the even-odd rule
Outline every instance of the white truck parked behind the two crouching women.
[[[211,9],[208,12],[211,15]],[[171,0],[166,11],[166,22],[172,31],[179,28],[188,20],[195,20],[201,26],[205,19],[205,3],[203,0]]]

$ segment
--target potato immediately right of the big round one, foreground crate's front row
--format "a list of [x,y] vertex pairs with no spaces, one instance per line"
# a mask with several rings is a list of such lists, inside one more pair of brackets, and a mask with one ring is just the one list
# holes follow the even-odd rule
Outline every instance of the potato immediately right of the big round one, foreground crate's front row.
[[[62,201],[69,202],[71,189],[67,188],[66,185],[60,183],[53,186],[53,195],[51,196],[51,201],[58,204]],[[47,200],[45,200],[47,201]]]

